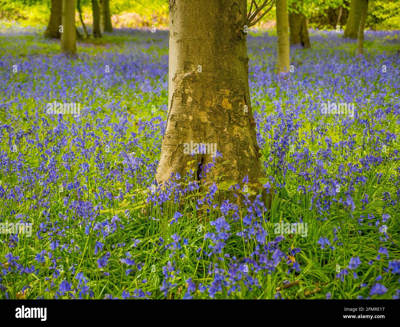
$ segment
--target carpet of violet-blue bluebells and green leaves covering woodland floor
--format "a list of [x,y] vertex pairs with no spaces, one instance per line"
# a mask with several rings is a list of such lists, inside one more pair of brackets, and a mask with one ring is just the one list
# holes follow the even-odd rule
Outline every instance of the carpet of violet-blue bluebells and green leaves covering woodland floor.
[[246,176],[156,184],[168,32],[115,30],[77,59],[42,32],[0,29],[0,223],[32,224],[0,234],[0,299],[399,298],[400,33],[366,32],[357,57],[311,31],[279,77],[273,32],[250,33],[268,210]]

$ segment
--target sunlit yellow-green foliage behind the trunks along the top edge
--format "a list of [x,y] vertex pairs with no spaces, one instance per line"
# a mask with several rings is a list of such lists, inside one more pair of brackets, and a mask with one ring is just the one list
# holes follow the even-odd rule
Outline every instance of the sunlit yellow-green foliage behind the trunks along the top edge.
[[[248,8],[251,0],[247,0]],[[295,6],[297,4],[297,6]],[[301,5],[302,4],[302,5]],[[340,6],[349,8],[349,1],[344,0],[288,0],[288,12],[302,12],[306,17],[326,16],[327,10]],[[50,17],[51,0],[0,0],[1,15],[11,20],[24,20],[23,25],[44,24]],[[85,24],[92,20],[91,0],[81,1]],[[168,26],[167,0],[113,0],[110,1],[110,11],[116,15],[113,22],[116,27]],[[129,13],[134,13],[134,16]],[[273,8],[263,21],[275,20]],[[400,1],[372,0],[368,7],[366,26],[375,30],[400,29]],[[326,26],[326,28],[330,28]]]

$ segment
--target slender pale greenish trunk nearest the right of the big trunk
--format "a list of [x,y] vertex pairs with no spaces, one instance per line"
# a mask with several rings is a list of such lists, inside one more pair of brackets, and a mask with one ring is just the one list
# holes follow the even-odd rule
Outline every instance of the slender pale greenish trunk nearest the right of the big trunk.
[[286,0],[276,2],[276,33],[278,35],[278,73],[286,73],[290,66],[289,23]]

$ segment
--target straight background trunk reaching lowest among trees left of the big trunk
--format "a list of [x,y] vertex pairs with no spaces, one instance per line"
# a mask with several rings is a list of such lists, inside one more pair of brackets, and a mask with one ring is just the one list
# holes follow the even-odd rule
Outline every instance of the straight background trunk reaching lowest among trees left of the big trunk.
[[75,1],[62,0],[61,53],[76,54]]

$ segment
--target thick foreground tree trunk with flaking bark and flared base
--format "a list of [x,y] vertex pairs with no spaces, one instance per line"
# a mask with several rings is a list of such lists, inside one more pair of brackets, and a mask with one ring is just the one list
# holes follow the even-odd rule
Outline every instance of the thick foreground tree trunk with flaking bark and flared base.
[[[258,178],[265,177],[250,104],[246,7],[246,0],[169,1],[168,118],[159,183],[171,173],[186,176],[189,161],[212,163],[216,150],[222,158],[205,180],[224,175],[221,180],[242,184],[248,175],[249,184],[260,184]],[[194,143],[210,146],[191,156],[185,149],[192,152]],[[197,178],[200,173],[201,168]]]

